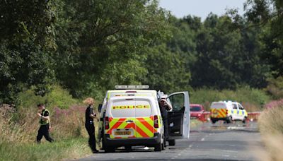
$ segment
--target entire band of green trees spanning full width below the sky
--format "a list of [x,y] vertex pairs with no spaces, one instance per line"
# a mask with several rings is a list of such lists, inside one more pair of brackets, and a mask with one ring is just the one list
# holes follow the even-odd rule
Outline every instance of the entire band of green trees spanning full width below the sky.
[[114,85],[264,88],[283,74],[283,6],[248,0],[231,10],[175,18],[157,0],[0,2],[0,102],[61,85],[100,98]]

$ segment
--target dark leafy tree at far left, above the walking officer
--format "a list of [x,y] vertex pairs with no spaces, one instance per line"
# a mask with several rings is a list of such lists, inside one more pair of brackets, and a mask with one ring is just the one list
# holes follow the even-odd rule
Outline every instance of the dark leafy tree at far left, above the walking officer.
[[22,88],[46,93],[53,78],[53,2],[0,2],[0,102],[12,102]]

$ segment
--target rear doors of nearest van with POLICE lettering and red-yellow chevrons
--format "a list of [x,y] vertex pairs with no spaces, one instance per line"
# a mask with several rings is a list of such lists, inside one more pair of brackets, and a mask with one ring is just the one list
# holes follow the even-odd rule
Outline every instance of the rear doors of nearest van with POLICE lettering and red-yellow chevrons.
[[150,138],[154,137],[154,116],[151,97],[110,98],[109,128],[110,138]]

